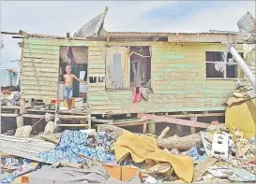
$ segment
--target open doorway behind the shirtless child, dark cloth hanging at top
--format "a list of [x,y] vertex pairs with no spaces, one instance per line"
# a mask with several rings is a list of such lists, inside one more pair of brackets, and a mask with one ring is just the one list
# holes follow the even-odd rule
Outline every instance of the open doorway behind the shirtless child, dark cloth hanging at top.
[[71,74],[86,83],[79,82],[73,78],[73,94],[71,107],[73,111],[84,111],[86,107],[86,93],[87,93],[87,64],[88,64],[88,48],[83,46],[77,47],[60,47],[60,68],[59,68],[59,110],[68,110],[68,104],[64,97],[64,86],[66,75],[66,66],[71,66]]

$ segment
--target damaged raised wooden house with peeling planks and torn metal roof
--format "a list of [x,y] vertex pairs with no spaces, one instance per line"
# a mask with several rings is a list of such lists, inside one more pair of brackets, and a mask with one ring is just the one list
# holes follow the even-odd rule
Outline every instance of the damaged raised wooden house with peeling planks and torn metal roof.
[[[83,67],[86,73],[84,113],[89,119],[98,114],[219,114],[226,109],[226,99],[235,90],[237,78],[249,86],[232,55],[225,55],[228,45],[235,44],[243,56],[247,35],[106,32],[103,14],[98,21],[93,20],[94,26],[91,23],[86,36],[84,26],[76,36],[22,34],[23,99],[58,98],[61,60],[68,60],[68,47],[78,58],[75,67]],[[255,71],[254,64],[250,67]],[[139,70],[141,83],[151,83],[152,91],[147,101],[133,103]]]

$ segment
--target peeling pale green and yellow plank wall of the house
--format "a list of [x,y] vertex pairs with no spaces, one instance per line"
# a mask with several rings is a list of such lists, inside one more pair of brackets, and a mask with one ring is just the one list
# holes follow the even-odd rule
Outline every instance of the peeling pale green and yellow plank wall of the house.
[[[132,89],[106,90],[104,81],[88,83],[88,111],[93,114],[224,110],[227,97],[235,89],[236,80],[205,78],[205,51],[224,51],[224,44],[131,41],[108,44],[110,47],[151,46],[154,92],[147,102],[133,104]],[[88,80],[105,78],[105,45],[105,42],[96,41],[25,39],[21,76],[23,97],[49,99],[57,95],[60,46],[88,46]],[[35,78],[32,58],[39,82]]]

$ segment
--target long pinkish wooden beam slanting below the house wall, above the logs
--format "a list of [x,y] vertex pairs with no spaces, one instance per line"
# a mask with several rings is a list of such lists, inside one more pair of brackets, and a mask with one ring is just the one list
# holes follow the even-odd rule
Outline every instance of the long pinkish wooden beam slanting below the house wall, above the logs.
[[173,118],[156,116],[151,114],[138,114],[137,117],[143,118],[143,116],[145,116],[148,120],[157,120],[161,122],[168,122],[168,123],[173,123],[173,124],[178,124],[183,126],[192,126],[192,127],[198,127],[198,128],[207,128],[209,126],[208,123],[204,123],[204,122],[198,122],[194,120],[173,119]]

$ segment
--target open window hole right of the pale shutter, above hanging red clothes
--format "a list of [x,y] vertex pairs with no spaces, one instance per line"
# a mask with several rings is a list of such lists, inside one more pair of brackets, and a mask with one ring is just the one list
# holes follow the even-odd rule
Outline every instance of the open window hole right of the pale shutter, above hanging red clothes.
[[129,51],[130,88],[151,82],[151,48],[130,47]]

